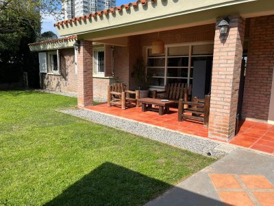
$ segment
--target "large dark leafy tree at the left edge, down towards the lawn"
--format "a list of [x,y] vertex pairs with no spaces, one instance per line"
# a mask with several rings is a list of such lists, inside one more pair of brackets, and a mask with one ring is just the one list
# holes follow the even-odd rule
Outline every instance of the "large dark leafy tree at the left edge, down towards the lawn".
[[61,0],[0,0],[0,82],[17,80],[23,71],[38,76],[37,54],[28,44],[40,36],[40,14],[59,20],[61,10]]

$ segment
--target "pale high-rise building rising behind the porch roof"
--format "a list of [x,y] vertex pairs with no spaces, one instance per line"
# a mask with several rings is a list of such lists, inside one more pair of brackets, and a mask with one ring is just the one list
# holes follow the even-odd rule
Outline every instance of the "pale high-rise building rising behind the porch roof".
[[115,5],[116,0],[66,0],[63,4],[64,19],[113,8]]

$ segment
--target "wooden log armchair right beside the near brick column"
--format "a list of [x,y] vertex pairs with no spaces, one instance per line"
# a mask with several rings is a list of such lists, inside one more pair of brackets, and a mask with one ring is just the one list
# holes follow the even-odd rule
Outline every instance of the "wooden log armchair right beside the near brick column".
[[[185,107],[187,105],[188,108]],[[186,115],[191,113],[191,115]],[[203,126],[208,127],[210,117],[210,95],[205,95],[204,100],[198,100],[193,98],[192,102],[185,102],[182,99],[179,100],[178,108],[178,121],[182,122],[183,119],[195,119],[203,122]]]

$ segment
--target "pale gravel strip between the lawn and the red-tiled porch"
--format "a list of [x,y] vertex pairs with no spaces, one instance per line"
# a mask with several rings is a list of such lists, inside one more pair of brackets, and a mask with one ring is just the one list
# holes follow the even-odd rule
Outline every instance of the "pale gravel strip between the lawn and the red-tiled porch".
[[177,133],[173,130],[160,128],[151,124],[144,124],[142,122],[137,122],[131,119],[116,117],[114,115],[108,115],[82,108],[66,109],[62,110],[61,112],[77,117],[82,117],[84,119],[88,119],[92,122],[97,122],[106,126],[119,128],[135,135],[154,139],[171,146],[199,153],[201,155],[210,155],[212,157],[223,157],[227,155],[227,152],[218,149],[219,146],[224,144],[221,144],[218,141],[213,141],[211,139],[203,139],[201,137]]

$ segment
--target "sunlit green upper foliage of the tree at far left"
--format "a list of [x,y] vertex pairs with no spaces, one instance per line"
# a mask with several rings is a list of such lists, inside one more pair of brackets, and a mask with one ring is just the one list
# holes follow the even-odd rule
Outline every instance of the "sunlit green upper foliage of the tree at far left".
[[[35,41],[40,13],[35,1],[10,0],[0,7],[0,54],[16,55],[24,38]],[[29,38],[32,37],[32,38]]]

